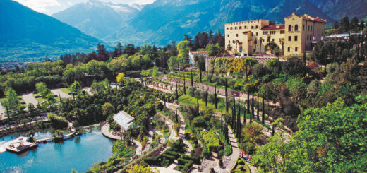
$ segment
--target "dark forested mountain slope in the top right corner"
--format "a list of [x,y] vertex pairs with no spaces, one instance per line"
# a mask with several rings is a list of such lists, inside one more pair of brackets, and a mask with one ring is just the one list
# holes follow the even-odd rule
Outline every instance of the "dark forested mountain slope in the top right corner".
[[359,19],[367,16],[367,0],[310,0],[323,13],[335,20],[348,15]]

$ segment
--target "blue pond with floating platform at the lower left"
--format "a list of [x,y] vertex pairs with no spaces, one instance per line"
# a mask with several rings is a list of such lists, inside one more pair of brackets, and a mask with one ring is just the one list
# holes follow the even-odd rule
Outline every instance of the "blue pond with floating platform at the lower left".
[[[0,146],[24,133],[0,138]],[[35,138],[47,138],[47,130],[37,131]],[[0,153],[0,172],[78,172],[87,171],[96,162],[107,161],[112,156],[113,140],[100,132],[99,126],[86,129],[83,135],[62,143],[40,143],[35,149],[19,155]]]

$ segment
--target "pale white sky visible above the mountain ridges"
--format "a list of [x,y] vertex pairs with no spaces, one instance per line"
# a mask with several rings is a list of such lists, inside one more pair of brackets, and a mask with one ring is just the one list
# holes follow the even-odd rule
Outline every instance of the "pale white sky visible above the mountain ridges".
[[[32,10],[45,13],[51,16],[59,11],[64,11],[80,2],[88,0],[14,0],[18,1],[23,6],[28,6]],[[105,2],[112,2],[114,4],[152,4],[155,0],[100,0]]]

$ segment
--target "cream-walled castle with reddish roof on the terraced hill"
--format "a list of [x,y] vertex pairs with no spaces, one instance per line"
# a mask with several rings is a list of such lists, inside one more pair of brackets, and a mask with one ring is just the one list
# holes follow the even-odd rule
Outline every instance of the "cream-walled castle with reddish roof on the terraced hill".
[[246,56],[269,54],[266,45],[275,42],[284,49],[284,56],[302,54],[312,49],[311,43],[325,35],[326,20],[292,13],[284,24],[274,25],[269,20],[251,20],[225,24],[225,46],[230,54]]

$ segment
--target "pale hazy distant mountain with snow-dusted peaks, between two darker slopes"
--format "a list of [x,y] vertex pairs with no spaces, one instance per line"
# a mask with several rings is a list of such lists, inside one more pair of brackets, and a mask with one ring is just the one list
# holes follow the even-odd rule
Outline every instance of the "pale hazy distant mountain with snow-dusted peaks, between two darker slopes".
[[88,35],[103,39],[119,30],[121,25],[136,16],[143,8],[139,4],[112,4],[90,0],[52,15]]

